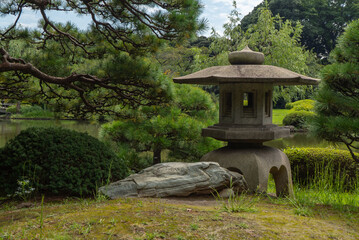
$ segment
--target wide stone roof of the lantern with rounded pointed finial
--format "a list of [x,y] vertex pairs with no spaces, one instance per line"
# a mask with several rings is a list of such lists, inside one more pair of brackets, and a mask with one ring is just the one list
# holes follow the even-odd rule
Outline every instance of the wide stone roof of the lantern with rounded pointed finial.
[[221,83],[272,83],[273,85],[318,85],[319,79],[285,68],[262,65],[264,55],[245,47],[228,55],[231,65],[215,66],[174,78],[175,83],[218,85]]

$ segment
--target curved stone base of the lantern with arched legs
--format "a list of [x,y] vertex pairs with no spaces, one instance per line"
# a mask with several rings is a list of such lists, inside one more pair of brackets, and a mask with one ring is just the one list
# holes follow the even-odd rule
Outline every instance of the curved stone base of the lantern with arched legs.
[[217,162],[221,167],[240,172],[253,192],[266,192],[269,174],[272,174],[277,196],[294,195],[290,163],[279,149],[233,144],[207,153],[201,161]]

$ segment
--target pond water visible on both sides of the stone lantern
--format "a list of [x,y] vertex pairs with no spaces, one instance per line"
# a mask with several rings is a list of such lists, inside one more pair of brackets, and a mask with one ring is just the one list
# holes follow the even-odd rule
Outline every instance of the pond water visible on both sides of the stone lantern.
[[[67,120],[0,120],[0,147],[14,138],[21,130],[29,127],[64,127],[79,132],[87,132],[89,135],[98,137],[101,127],[98,123],[67,121]],[[326,141],[318,140],[306,133],[295,133],[288,138],[266,142],[265,145],[284,149],[286,147],[329,147],[346,149],[345,145],[331,145]]]

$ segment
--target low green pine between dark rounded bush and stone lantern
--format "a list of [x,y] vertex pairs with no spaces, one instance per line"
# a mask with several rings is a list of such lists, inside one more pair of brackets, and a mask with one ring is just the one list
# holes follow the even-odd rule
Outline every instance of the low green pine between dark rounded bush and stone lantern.
[[[132,149],[120,152],[132,162],[131,169],[137,171],[146,166],[146,152],[153,152],[153,163],[161,161],[165,149],[169,150],[167,161],[198,161],[206,152],[220,146],[214,139],[201,137],[201,129],[218,118],[211,96],[200,88],[177,84],[173,97],[166,107],[127,110],[128,119],[102,126],[104,140],[115,142],[120,149]],[[139,159],[143,157],[146,159]]]

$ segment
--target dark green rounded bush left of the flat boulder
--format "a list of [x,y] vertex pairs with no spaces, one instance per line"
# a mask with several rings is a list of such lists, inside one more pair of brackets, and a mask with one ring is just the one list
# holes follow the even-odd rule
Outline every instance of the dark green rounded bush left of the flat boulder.
[[0,155],[0,195],[12,194],[27,179],[41,193],[89,195],[126,176],[123,161],[96,138],[62,128],[29,128],[10,140]]

